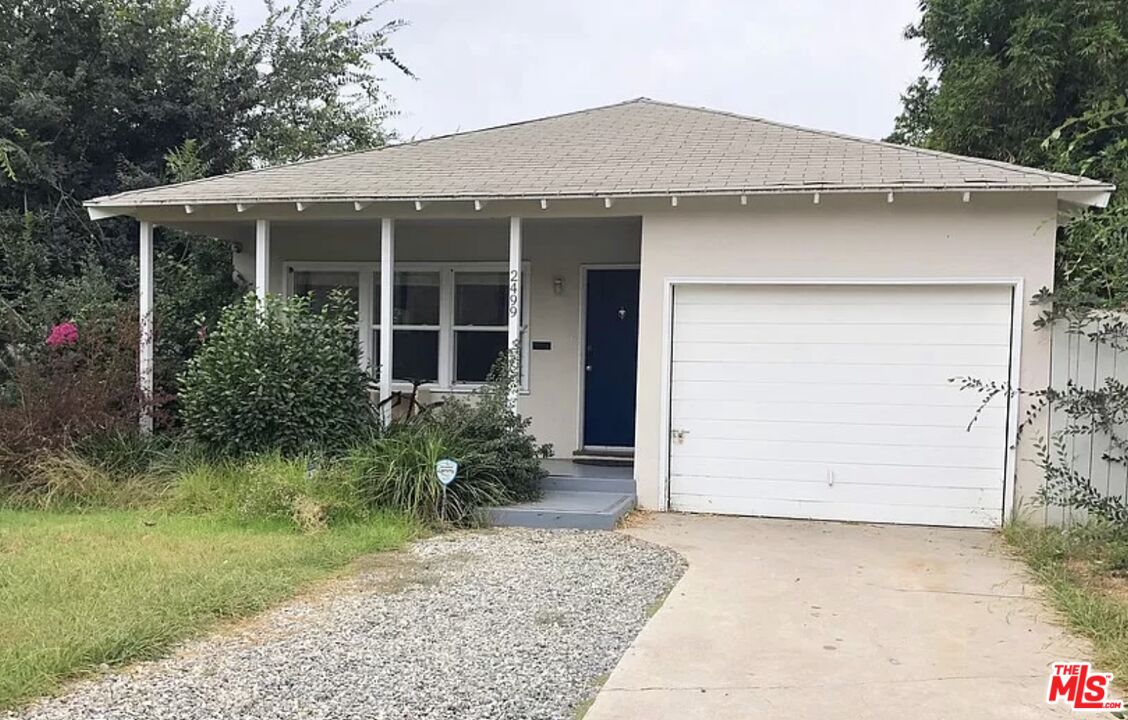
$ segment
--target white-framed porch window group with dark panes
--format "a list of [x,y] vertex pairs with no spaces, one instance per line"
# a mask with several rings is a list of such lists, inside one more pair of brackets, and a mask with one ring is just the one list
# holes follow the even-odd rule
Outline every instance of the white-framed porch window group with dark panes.
[[[379,269],[368,263],[333,263],[327,269],[316,265],[292,267],[292,291],[311,292],[315,306],[324,302],[334,288],[355,292],[362,310],[369,310],[360,314],[370,328],[361,333],[361,343],[374,371],[384,332]],[[503,265],[493,263],[398,265],[393,286],[393,379],[422,380],[440,387],[484,381],[506,349],[508,276]],[[522,324],[527,297],[518,309]],[[525,341],[522,335],[522,348]]]

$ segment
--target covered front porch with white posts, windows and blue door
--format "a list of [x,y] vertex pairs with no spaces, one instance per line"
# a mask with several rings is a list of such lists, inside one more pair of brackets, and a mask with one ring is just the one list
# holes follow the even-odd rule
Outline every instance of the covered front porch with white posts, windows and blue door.
[[[361,363],[378,378],[380,399],[413,383],[424,399],[473,392],[515,348],[514,402],[538,440],[561,457],[633,451],[640,217],[194,214],[203,212],[164,223],[231,242],[236,272],[259,297],[309,293],[318,304],[334,289],[353,295]],[[153,226],[141,222],[144,392],[159,292]]]

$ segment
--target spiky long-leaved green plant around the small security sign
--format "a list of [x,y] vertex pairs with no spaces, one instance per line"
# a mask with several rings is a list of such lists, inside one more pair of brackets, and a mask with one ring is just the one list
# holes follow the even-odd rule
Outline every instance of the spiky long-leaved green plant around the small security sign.
[[[434,472],[444,458],[459,465],[446,492]],[[465,523],[475,509],[512,499],[494,459],[442,427],[420,422],[393,425],[387,436],[353,448],[347,465],[371,507],[407,512],[425,523]]]

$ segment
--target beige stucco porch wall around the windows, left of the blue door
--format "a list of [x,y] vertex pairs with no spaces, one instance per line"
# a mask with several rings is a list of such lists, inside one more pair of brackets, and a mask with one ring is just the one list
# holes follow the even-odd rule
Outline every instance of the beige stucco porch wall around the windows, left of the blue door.
[[[580,273],[585,264],[637,263],[640,219],[529,219],[522,223],[529,264],[529,334],[552,350],[529,355],[528,393],[519,410],[532,431],[570,456],[579,439]],[[273,292],[285,288],[285,264],[296,261],[379,263],[380,225],[372,221],[274,222],[271,229]],[[236,269],[254,281],[254,243],[244,242]],[[399,220],[397,262],[508,262],[509,220]],[[564,281],[555,295],[553,280]]]

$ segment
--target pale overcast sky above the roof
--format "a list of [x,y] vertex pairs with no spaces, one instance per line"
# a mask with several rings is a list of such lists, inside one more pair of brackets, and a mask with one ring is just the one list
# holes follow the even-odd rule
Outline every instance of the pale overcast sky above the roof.
[[[356,0],[356,8],[368,7]],[[233,0],[240,25],[262,0]],[[922,72],[916,0],[395,0],[400,138],[646,96],[881,138]]]

